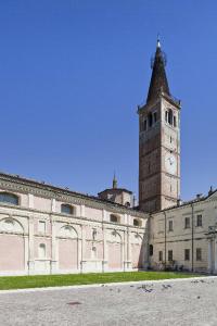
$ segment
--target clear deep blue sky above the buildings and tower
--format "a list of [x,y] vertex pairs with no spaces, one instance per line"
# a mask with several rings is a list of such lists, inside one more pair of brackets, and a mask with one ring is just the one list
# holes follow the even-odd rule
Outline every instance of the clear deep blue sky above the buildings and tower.
[[137,105],[161,34],[182,100],[181,197],[217,187],[217,2],[0,1],[0,171],[138,193]]

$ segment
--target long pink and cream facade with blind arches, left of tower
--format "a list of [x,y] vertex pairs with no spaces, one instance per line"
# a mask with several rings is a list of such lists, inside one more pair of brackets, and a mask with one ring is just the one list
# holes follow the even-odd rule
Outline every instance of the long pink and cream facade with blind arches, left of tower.
[[[0,275],[131,271],[139,265],[142,244],[133,246],[135,235],[142,239],[145,234],[143,213],[49,187],[18,177],[5,181],[0,174],[0,193],[18,198],[0,202]],[[64,203],[73,213],[62,212]]]

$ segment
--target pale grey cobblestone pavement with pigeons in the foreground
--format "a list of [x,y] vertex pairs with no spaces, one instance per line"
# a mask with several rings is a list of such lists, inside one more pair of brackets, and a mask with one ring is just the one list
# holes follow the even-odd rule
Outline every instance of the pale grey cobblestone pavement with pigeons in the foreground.
[[1,293],[0,325],[217,325],[217,278]]

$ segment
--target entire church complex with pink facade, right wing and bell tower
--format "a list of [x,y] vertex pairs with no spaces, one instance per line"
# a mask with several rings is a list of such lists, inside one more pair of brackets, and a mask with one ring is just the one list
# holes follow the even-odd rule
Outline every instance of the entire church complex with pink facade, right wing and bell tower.
[[[180,199],[180,110],[157,40],[139,115],[139,205],[0,173],[0,275],[137,269],[217,273],[217,191]],[[135,145],[137,146],[137,145]]]

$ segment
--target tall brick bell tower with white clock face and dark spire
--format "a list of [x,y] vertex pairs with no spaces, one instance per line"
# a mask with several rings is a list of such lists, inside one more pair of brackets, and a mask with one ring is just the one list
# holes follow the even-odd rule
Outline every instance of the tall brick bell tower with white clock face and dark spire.
[[180,101],[166,77],[166,58],[157,39],[146,103],[139,114],[139,206],[156,212],[180,198]]

